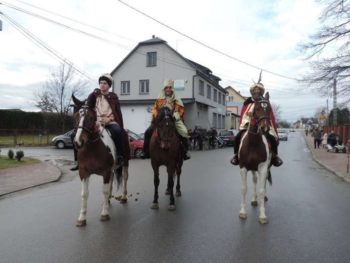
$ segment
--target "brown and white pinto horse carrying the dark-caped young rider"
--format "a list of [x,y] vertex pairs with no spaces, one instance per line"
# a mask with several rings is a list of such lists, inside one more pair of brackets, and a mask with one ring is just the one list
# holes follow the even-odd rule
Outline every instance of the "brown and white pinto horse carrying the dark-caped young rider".
[[[79,177],[82,182],[81,188],[81,210],[80,216],[75,224],[77,227],[86,225],[86,207],[89,196],[89,178],[91,174],[103,177],[103,208],[99,220],[110,219],[108,206],[112,197],[113,179],[117,180],[117,190],[122,185],[121,203],[127,201],[127,181],[129,162],[125,160],[123,166],[115,164],[116,147],[107,130],[95,122],[96,98],[91,97],[90,101],[79,101],[72,95],[74,104],[77,106],[75,113],[76,135],[74,145],[78,150]],[[130,146],[129,146],[130,147]]]

